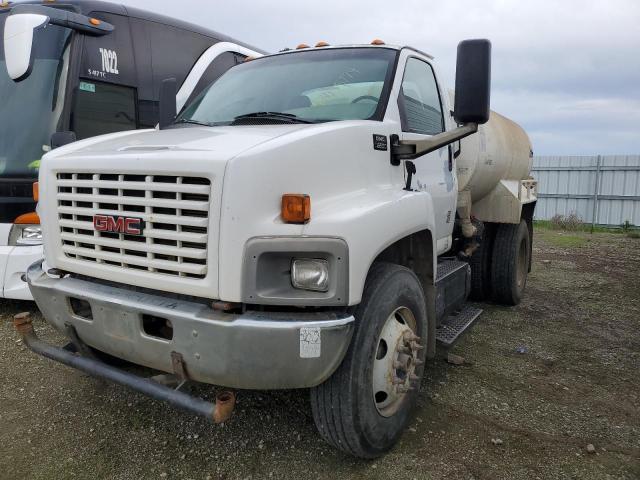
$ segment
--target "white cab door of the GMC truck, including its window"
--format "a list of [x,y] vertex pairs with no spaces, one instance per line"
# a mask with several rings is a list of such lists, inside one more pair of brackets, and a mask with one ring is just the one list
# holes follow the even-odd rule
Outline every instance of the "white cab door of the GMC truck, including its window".
[[[401,140],[421,140],[445,131],[443,94],[431,64],[424,58],[407,55],[398,92]],[[413,161],[414,190],[428,192],[433,200],[438,253],[451,246],[458,193],[453,158],[443,147]]]

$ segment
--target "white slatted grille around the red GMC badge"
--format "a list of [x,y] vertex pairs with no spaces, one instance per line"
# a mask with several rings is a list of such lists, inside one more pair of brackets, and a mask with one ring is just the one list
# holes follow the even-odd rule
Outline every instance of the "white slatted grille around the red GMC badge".
[[[204,278],[211,181],[199,177],[58,173],[62,251],[83,262]],[[98,216],[113,220],[98,231]],[[119,219],[141,220],[139,234]],[[116,228],[114,228],[116,227]]]

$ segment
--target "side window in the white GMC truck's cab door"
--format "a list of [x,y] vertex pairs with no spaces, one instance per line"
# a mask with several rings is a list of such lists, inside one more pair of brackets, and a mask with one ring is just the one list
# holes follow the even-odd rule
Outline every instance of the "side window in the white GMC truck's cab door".
[[444,131],[438,85],[431,65],[409,58],[398,98],[404,132],[436,135]]

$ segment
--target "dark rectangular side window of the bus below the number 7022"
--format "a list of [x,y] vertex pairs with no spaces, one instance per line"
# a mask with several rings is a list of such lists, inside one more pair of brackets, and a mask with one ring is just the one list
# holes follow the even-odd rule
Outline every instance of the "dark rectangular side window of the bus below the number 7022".
[[105,133],[135,130],[135,89],[81,80],[76,93],[72,128],[78,140]]

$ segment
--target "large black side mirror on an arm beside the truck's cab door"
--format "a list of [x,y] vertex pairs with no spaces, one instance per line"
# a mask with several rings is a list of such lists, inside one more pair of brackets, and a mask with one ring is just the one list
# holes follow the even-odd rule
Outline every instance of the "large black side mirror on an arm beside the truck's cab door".
[[491,42],[464,40],[458,45],[453,116],[461,124],[489,121]]

